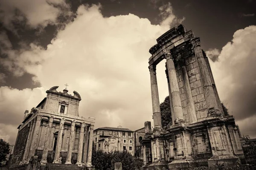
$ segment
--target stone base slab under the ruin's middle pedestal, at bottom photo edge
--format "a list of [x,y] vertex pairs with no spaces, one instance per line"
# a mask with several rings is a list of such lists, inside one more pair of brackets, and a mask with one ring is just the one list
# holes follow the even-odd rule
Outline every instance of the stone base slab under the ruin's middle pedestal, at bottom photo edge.
[[179,159],[168,164],[169,170],[186,170],[191,167],[196,167],[194,159]]

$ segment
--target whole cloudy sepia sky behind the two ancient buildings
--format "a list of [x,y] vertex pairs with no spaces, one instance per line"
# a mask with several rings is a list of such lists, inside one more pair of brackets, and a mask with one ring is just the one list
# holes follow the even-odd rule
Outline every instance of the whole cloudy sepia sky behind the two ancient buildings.
[[[222,102],[256,138],[256,0],[0,0],[0,138],[15,144],[25,110],[68,84],[97,127],[152,119],[148,50],[183,24],[201,38]],[[168,96],[157,65],[160,102]]]

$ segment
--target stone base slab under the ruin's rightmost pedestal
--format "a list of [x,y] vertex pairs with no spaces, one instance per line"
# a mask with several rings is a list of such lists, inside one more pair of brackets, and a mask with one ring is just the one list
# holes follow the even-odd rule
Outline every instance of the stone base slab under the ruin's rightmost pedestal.
[[212,156],[210,159],[208,159],[208,166],[214,167],[214,165],[222,163],[226,164],[227,166],[234,166],[238,162],[241,164],[240,159],[234,155],[217,155]]

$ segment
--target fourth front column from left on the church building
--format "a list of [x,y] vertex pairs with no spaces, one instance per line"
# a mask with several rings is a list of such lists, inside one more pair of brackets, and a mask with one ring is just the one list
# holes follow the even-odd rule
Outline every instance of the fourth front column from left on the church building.
[[70,139],[68,142],[67,159],[66,159],[65,164],[72,164],[71,157],[72,157],[72,151],[73,151],[73,146],[74,146],[74,140],[76,139],[75,125],[76,125],[76,120],[73,120],[71,123]]

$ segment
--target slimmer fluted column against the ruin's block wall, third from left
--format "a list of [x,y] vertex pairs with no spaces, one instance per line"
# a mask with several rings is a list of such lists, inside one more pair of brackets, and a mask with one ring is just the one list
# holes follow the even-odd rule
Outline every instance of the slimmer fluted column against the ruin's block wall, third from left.
[[181,66],[181,76],[183,78],[184,92],[185,92],[186,102],[187,102],[187,111],[189,114],[189,122],[195,123],[195,122],[197,122],[197,117],[196,117],[196,113],[195,113],[195,105],[194,105],[194,100],[193,100],[192,92],[191,92],[191,88],[190,88],[189,76],[186,71],[185,65]]

